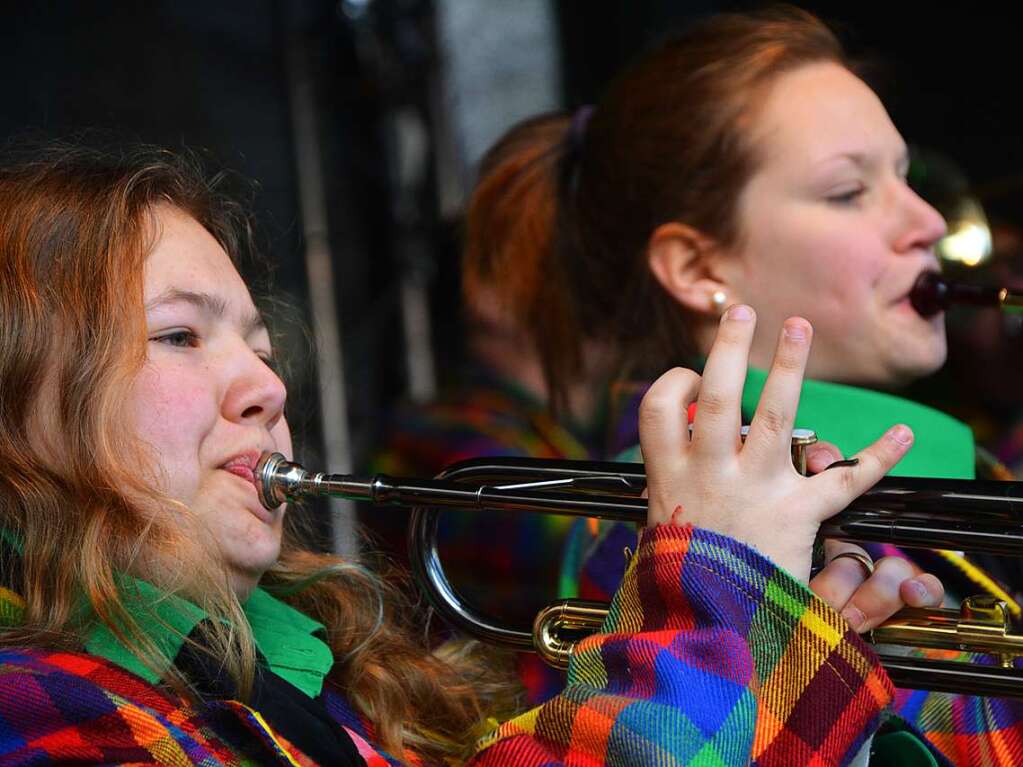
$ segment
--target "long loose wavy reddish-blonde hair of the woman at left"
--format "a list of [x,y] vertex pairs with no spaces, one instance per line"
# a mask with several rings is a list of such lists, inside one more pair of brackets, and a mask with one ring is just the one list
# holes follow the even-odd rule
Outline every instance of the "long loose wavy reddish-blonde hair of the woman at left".
[[[244,697],[256,650],[237,597],[216,552],[195,543],[207,538],[199,522],[142,479],[157,469],[121,407],[145,361],[153,207],[193,217],[235,263],[252,250],[250,219],[220,180],[193,159],[146,147],[34,147],[0,169],[0,526],[23,542],[27,603],[0,643],[77,648],[89,622],[102,622],[194,696],[125,610],[127,573],[201,603],[214,620],[198,649]],[[514,687],[492,659],[465,644],[431,651],[394,587],[311,550],[294,520],[262,585],[327,627],[330,679],[389,752],[427,763],[463,756],[488,715],[510,713]]]

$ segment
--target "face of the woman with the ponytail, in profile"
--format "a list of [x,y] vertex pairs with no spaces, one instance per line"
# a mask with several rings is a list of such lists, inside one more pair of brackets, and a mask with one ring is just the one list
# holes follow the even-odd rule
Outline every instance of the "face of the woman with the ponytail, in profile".
[[729,303],[757,310],[753,364],[769,366],[800,315],[811,377],[888,387],[940,367],[943,316],[921,317],[908,292],[937,269],[944,221],[906,185],[905,143],[875,93],[837,64],[803,66],[775,81],[752,131],[761,165],[720,266]]

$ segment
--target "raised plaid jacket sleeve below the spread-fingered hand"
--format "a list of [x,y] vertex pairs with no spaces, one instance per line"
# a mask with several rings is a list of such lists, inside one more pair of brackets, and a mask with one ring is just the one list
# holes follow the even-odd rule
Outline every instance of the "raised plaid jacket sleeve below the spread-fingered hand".
[[565,690],[470,763],[844,764],[892,692],[877,657],[787,573],[732,539],[661,526]]

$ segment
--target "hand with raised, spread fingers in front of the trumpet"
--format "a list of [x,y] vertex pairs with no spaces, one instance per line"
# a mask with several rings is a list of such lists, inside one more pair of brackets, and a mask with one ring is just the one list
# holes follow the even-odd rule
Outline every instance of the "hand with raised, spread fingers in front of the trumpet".
[[[740,439],[743,384],[756,316],[737,305],[721,318],[701,377],[669,370],[639,409],[647,464],[648,525],[693,524],[736,538],[804,583],[824,520],[845,508],[902,457],[913,443],[904,425],[888,430],[856,455],[855,465],[803,477],[792,464],[791,436],[812,328],[784,323],[749,435]],[[698,403],[688,436],[686,409]]]

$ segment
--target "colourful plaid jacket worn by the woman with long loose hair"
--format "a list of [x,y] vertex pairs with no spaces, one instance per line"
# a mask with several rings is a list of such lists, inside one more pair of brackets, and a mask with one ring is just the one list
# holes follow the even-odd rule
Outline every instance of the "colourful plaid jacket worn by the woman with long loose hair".
[[[872,651],[786,573],[731,539],[660,527],[565,690],[484,738],[469,764],[847,764],[891,696]],[[337,691],[326,709],[367,765],[395,763]],[[311,760],[236,702],[188,704],[85,653],[3,649],[0,764],[53,762]]]

